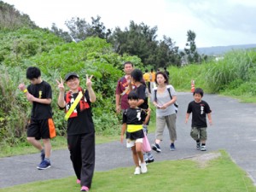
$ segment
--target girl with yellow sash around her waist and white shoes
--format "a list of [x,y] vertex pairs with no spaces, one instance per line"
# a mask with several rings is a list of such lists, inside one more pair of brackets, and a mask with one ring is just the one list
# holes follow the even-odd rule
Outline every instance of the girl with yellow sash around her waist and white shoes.
[[[137,92],[132,90],[128,95],[130,108],[127,108],[123,113],[123,125],[121,130],[121,143],[124,140],[126,131],[126,147],[131,148],[132,158],[135,168],[135,175],[148,172],[146,162],[143,160],[143,124],[147,124],[150,109],[148,113],[142,108],[137,108],[138,96]],[[139,166],[139,160],[141,166]]]

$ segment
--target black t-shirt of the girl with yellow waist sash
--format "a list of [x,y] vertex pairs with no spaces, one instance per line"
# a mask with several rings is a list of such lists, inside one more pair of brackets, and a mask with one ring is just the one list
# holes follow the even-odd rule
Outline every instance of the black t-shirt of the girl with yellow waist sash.
[[[146,119],[147,113],[141,108],[128,108],[123,113],[123,124],[126,125],[143,125],[143,121]],[[143,138],[143,129],[135,132],[127,132],[126,138],[136,140],[137,138]]]

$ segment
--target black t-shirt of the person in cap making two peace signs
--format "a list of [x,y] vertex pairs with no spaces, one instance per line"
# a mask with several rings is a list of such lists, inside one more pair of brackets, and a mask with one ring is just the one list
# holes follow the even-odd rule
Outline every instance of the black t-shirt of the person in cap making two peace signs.
[[[74,93],[73,94],[74,99],[76,99],[78,95],[79,93]],[[84,96],[90,106],[90,96],[89,96],[88,90],[85,90]],[[66,101],[66,95],[64,100]],[[95,132],[94,124],[92,120],[91,108],[86,108],[83,111],[80,111],[80,104],[78,104],[76,109],[78,111],[78,116],[69,118],[67,120],[67,135],[71,136],[71,135]]]

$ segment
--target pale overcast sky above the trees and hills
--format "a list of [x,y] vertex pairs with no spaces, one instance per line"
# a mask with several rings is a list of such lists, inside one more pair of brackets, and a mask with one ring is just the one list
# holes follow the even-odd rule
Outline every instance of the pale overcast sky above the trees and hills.
[[30,16],[36,25],[67,31],[66,20],[79,17],[91,23],[101,17],[107,28],[122,30],[130,21],[157,26],[158,39],[172,38],[180,49],[187,31],[196,34],[197,47],[256,44],[255,0],[3,0]]

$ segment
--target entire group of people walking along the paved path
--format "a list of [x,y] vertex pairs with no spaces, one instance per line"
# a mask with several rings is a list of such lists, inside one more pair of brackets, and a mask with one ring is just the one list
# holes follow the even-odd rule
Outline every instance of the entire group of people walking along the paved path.
[[[156,109],[155,140],[151,146],[157,153],[161,152],[160,142],[163,140],[165,127],[170,137],[170,150],[176,149],[177,140],[177,94],[172,84],[168,83],[167,71],[144,74],[134,68],[131,61],[124,63],[125,76],[118,80],[115,90],[116,112],[122,114],[121,143],[131,148],[135,164],[134,174],[148,172],[148,163],[154,162],[154,155],[148,143],[147,133],[151,109]],[[91,103],[96,102],[96,94],[92,88],[93,76],[86,75],[86,89],[80,87],[78,73],[67,73],[63,79],[56,80],[59,89],[57,104],[65,111],[67,120],[67,147],[70,160],[81,191],[89,191],[95,169],[95,126],[92,119]],[[31,118],[27,128],[27,141],[41,152],[38,170],[51,166],[50,139],[56,137],[55,124],[52,119],[51,86],[41,78],[38,67],[28,67],[27,87],[19,84],[28,102],[32,103]],[[65,92],[65,84],[68,90]],[[196,148],[207,150],[207,118],[212,124],[211,109],[207,102],[201,100],[203,90],[195,89],[194,101],[189,102],[185,123],[192,113],[190,135],[196,142]],[[151,105],[153,106],[151,106]],[[125,136],[125,137],[124,137]],[[40,143],[43,141],[43,145]],[[148,148],[149,146],[149,148]]]

